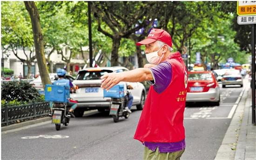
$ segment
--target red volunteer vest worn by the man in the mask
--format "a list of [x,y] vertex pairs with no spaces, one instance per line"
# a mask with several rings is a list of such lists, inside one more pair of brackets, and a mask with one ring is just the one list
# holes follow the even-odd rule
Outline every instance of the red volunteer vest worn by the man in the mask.
[[187,96],[188,74],[181,54],[166,60],[172,67],[172,79],[162,92],[149,88],[147,100],[134,139],[141,142],[178,142],[185,138],[183,113]]

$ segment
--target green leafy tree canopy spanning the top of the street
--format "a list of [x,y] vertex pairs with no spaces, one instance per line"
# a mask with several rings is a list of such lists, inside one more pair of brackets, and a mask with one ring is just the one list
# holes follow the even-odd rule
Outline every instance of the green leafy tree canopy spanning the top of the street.
[[[244,62],[250,52],[250,27],[236,24],[236,2],[221,1],[93,1],[92,40],[93,53],[103,53],[112,66],[130,67],[129,57],[137,54],[139,67],[143,67],[143,47],[135,43],[146,38],[157,19],[158,26],[168,31],[173,48],[182,52],[189,47],[191,59],[200,52],[202,62],[218,67],[228,57]],[[38,1],[40,24],[44,38],[45,54],[54,51],[67,64],[77,54],[85,63],[88,59],[82,48],[88,48],[88,2],[86,1]],[[155,9],[154,8],[162,8]],[[34,48],[29,15],[22,2],[2,2],[2,48]],[[152,12],[154,11],[154,12]],[[144,28],[143,33],[135,31]],[[243,34],[242,34],[243,33]],[[69,57],[63,54],[67,48]],[[125,57],[120,61],[119,57]],[[47,60],[51,62],[50,59]],[[98,63],[102,63],[98,62]],[[100,64],[99,64],[100,65]],[[105,65],[105,63],[102,63]],[[206,65],[206,64],[205,64]]]

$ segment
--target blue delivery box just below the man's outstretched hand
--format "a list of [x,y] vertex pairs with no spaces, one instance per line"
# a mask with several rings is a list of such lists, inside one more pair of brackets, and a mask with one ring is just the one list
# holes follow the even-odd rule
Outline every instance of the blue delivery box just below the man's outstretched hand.
[[110,98],[121,98],[124,97],[124,85],[118,84],[110,88],[108,91],[104,89],[103,97],[110,97]]

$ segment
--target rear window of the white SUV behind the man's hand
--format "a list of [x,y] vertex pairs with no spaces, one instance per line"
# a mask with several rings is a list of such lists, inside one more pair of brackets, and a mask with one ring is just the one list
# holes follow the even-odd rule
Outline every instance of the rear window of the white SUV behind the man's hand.
[[76,80],[100,80],[101,76],[107,73],[111,73],[111,70],[101,70],[101,71],[80,71]]

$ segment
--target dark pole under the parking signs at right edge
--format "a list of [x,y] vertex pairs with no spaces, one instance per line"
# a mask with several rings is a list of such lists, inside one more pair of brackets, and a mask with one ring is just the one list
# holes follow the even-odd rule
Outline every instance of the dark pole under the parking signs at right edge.
[[252,25],[252,31],[251,31],[251,36],[252,36],[252,124],[255,126],[256,125],[256,120],[255,120],[255,24]]

